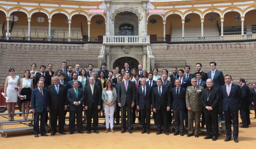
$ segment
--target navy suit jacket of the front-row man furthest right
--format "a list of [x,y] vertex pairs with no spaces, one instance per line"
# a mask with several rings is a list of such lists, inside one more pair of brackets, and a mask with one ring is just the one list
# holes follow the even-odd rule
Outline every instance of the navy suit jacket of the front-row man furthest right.
[[238,111],[242,100],[241,87],[232,83],[229,96],[227,95],[226,84],[220,88],[220,99],[223,101],[223,111]]

